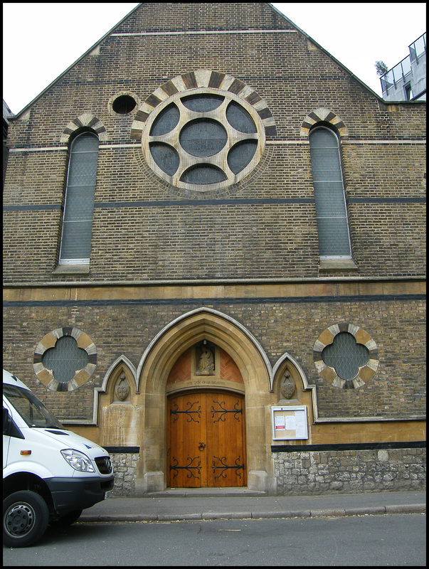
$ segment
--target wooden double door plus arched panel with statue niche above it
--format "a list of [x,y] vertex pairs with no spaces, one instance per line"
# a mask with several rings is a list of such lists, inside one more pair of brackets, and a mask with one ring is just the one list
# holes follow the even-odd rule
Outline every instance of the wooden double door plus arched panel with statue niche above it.
[[223,349],[203,339],[184,351],[166,382],[166,484],[245,486],[244,382]]

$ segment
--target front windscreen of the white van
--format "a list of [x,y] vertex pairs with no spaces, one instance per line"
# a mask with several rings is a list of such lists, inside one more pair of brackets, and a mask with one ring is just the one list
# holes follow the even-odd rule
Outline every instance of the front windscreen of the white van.
[[14,405],[14,408],[27,423],[28,427],[64,428],[31,391],[4,383],[3,393],[9,399],[11,405]]

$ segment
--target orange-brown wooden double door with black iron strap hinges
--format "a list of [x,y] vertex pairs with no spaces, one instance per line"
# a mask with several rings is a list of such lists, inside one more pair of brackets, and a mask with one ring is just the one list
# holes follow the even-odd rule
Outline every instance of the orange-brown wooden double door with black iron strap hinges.
[[168,400],[167,484],[247,485],[244,395],[194,392]]

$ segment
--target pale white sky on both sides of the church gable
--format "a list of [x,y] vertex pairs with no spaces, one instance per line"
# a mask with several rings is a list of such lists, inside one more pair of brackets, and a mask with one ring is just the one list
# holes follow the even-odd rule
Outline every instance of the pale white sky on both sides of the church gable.
[[[3,98],[12,112],[26,107],[137,3],[5,2]],[[273,2],[322,48],[381,95],[374,64],[392,68],[426,31],[426,3]],[[90,25],[80,28],[84,15]],[[73,22],[76,33],[68,31]]]

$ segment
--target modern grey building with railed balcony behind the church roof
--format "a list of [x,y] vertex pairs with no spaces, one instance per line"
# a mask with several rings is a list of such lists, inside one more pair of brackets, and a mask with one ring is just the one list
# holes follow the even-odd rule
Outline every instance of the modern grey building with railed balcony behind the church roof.
[[426,32],[408,50],[406,58],[380,78],[386,101],[426,100]]

